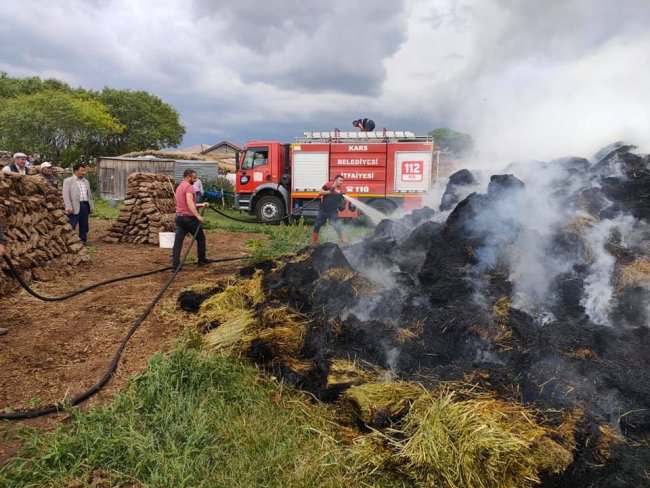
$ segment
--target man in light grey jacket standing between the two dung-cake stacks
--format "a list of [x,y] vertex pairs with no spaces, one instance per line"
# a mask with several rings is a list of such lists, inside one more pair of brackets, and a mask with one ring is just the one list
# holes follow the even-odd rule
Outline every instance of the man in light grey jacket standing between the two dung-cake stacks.
[[88,244],[88,217],[95,209],[90,182],[85,178],[86,165],[77,163],[72,167],[74,176],[63,180],[63,204],[68,214],[68,223],[73,229],[79,224],[79,238],[84,246]]

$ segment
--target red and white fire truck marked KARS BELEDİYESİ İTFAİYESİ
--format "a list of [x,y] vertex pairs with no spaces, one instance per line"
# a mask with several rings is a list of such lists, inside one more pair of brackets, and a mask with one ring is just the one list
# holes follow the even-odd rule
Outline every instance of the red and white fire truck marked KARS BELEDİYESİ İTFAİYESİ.
[[[432,183],[434,145],[409,131],[305,132],[292,144],[252,141],[237,165],[235,208],[263,222],[313,216],[321,187],[338,174],[343,191],[383,212],[417,208]],[[354,217],[346,209],[341,217]]]

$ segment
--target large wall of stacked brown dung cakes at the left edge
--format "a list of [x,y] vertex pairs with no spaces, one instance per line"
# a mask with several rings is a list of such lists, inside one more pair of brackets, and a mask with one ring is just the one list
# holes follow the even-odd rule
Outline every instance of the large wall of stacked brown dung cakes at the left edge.
[[[60,192],[40,176],[0,175],[0,222],[6,255],[28,281],[52,279],[89,259],[68,225]],[[0,295],[17,286],[0,261]]]

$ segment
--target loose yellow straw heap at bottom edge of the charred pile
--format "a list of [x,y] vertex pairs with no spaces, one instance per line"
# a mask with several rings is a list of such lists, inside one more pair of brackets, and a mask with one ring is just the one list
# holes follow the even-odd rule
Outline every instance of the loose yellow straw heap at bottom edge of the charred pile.
[[445,386],[422,394],[391,429],[358,439],[354,453],[362,471],[396,466],[421,486],[529,487],[541,472],[562,472],[573,461],[572,446],[554,437],[528,407]]

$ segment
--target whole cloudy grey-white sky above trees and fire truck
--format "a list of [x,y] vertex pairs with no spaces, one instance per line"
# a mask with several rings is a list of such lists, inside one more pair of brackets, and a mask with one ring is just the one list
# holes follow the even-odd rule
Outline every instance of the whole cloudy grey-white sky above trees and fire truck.
[[0,0],[0,71],[146,90],[183,146],[305,130],[470,133],[486,160],[650,133],[646,0]]

